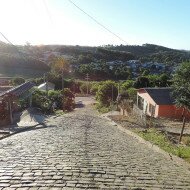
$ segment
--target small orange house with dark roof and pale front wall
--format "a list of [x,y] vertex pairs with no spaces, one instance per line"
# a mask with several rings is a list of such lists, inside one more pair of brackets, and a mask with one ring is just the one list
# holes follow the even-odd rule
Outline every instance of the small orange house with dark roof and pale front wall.
[[[141,88],[137,91],[137,107],[155,118],[180,119],[183,108],[177,108],[171,95],[171,88]],[[190,118],[190,113],[186,115]]]

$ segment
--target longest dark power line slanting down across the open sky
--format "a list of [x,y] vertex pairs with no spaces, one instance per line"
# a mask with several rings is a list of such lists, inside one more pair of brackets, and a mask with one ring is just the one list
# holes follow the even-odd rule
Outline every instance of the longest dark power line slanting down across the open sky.
[[73,4],[77,9],[79,9],[81,12],[83,12],[85,15],[87,15],[90,19],[92,19],[96,24],[98,24],[99,26],[101,26],[102,28],[104,28],[105,30],[107,30],[109,33],[111,33],[112,35],[114,35],[115,37],[117,37],[120,41],[125,42],[125,44],[128,44],[120,36],[118,36],[117,34],[115,34],[114,32],[112,32],[110,29],[108,29],[106,26],[104,26],[103,24],[101,24],[98,20],[96,20],[94,17],[92,17],[86,11],[84,11],[82,8],[80,8],[78,5],[76,5],[72,0],[68,0],[68,1],[71,4]]

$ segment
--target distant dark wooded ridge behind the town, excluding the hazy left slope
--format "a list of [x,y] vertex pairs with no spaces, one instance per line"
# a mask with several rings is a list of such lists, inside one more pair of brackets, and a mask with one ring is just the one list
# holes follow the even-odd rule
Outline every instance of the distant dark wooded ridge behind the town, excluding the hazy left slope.
[[54,48],[55,51],[61,54],[77,58],[83,56],[83,59],[86,59],[84,61],[87,62],[91,62],[94,59],[102,59],[104,61],[139,59],[143,63],[153,61],[175,64],[190,60],[190,51],[171,49],[154,44],[143,44],[142,46],[107,45],[104,47],[54,46]]

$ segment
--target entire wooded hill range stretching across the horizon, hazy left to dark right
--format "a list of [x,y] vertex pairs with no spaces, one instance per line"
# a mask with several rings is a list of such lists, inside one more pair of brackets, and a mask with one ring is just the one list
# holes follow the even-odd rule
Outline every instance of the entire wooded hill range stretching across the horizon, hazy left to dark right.
[[[89,64],[92,62],[109,62],[140,60],[145,62],[158,62],[166,65],[180,64],[182,61],[190,60],[190,52],[176,50],[163,46],[144,44],[142,46],[120,45],[120,46],[66,46],[66,45],[42,45],[42,46],[12,46],[0,42],[0,75],[4,71],[20,75],[23,69],[38,76],[38,72],[47,72],[55,57],[64,56],[72,64]],[[36,74],[35,74],[36,73]]]

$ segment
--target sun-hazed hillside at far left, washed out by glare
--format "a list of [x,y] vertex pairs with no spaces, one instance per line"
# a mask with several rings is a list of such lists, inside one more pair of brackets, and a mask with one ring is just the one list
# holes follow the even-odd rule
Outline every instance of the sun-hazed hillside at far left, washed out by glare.
[[33,57],[33,53],[23,51],[23,46],[12,46],[0,42],[0,76],[41,76],[50,70],[49,66]]

